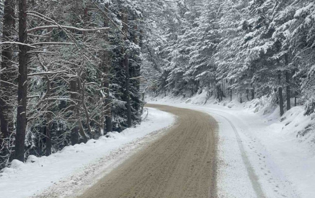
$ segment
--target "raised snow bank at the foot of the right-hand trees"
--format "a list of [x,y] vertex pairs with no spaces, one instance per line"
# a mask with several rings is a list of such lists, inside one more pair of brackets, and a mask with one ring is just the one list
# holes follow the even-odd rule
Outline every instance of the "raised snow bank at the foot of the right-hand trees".
[[[164,97],[159,96],[148,96],[146,98],[148,102],[159,102],[159,103],[172,103],[172,104],[193,104],[212,106],[219,105],[232,110],[243,111],[244,113],[255,113],[261,116],[269,125],[278,124],[278,133],[295,136],[297,142],[307,142],[309,146],[315,146],[315,113],[310,116],[305,116],[305,110],[302,106],[291,108],[286,111],[285,114],[280,117],[279,107],[272,106],[271,98],[262,97],[256,98],[252,101],[239,103],[237,98],[233,98],[230,102],[228,99],[218,102],[215,98],[207,95],[207,90],[203,90],[200,94],[195,94],[192,97],[171,96]],[[291,105],[293,106],[293,105]]]

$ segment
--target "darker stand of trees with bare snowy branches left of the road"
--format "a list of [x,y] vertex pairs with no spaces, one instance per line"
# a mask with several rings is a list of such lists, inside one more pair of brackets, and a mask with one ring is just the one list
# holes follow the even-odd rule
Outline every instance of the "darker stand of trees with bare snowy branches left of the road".
[[0,167],[141,121],[141,9],[124,0],[1,3]]

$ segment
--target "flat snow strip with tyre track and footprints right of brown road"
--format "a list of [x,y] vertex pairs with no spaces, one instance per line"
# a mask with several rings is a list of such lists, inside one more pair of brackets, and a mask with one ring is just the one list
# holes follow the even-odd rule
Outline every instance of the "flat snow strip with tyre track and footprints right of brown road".
[[[281,145],[270,127],[259,115],[212,106],[170,105],[207,112],[219,122],[218,181],[219,197],[313,197],[313,182],[300,166],[303,154],[286,153],[288,145]],[[288,151],[288,150],[287,150]],[[290,154],[295,155],[292,157]],[[314,162],[314,158],[305,159]],[[307,161],[308,160],[308,161]],[[299,168],[299,170],[296,170]],[[299,174],[304,174],[299,175]],[[313,176],[313,175],[312,175]],[[303,179],[305,178],[305,179]],[[312,178],[313,181],[314,178]]]

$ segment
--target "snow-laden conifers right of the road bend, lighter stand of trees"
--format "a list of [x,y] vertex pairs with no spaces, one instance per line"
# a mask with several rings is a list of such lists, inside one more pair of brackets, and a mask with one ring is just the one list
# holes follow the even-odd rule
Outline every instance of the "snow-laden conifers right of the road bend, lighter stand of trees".
[[301,104],[313,113],[313,1],[184,1],[168,19],[155,45],[156,94],[208,90],[218,101],[240,102],[269,96],[281,115]]

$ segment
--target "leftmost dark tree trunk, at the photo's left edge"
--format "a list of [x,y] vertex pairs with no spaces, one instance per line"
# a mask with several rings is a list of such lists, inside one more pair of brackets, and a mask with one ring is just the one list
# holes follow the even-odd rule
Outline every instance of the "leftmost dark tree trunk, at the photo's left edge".
[[[3,41],[10,41],[12,39],[12,30],[14,27],[14,2],[11,0],[5,1],[4,9],[4,19],[3,19]],[[2,49],[2,63],[1,69],[4,70],[0,74],[0,134],[2,134],[1,139],[6,139],[9,137],[9,123],[12,122],[10,114],[12,112],[12,107],[9,105],[9,96],[11,95],[11,85],[9,82],[12,79],[12,60],[13,48],[12,46],[4,46]],[[0,142],[0,144],[2,144]]]

